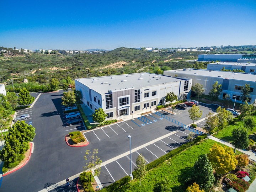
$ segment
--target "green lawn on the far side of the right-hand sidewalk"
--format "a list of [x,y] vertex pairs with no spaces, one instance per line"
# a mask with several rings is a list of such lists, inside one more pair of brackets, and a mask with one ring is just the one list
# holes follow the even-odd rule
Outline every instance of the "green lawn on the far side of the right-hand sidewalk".
[[[256,116],[254,117],[254,121],[256,121]],[[244,127],[244,123],[241,119],[241,121],[235,122],[233,125],[230,125],[229,127],[225,127],[223,130],[220,130],[218,134],[214,134],[214,137],[217,137],[219,139],[222,139],[226,142],[231,142],[233,140],[232,137],[232,131],[235,127]],[[253,130],[249,130],[249,135],[256,132],[256,127]]]

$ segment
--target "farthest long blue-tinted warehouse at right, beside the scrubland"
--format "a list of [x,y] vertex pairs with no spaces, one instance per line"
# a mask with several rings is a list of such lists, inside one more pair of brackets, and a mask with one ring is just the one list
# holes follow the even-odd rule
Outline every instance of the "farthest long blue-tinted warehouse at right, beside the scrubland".
[[256,62],[256,54],[201,54],[198,61]]

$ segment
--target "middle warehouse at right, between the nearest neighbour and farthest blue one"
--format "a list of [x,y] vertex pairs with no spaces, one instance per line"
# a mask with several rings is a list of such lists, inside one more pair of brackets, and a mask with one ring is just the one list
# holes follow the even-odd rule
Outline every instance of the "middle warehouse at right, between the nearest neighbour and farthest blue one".
[[209,63],[207,64],[208,70],[217,70],[221,69],[235,70],[240,69],[245,71],[245,73],[256,73],[256,64],[255,63],[238,63],[238,62],[217,62],[217,63]]

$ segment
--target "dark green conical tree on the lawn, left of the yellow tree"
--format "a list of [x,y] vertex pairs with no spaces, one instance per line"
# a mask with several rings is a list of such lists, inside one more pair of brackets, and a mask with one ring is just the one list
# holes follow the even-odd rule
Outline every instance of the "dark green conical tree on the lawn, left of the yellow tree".
[[199,157],[195,162],[193,179],[206,191],[209,191],[209,189],[212,188],[215,177],[213,175],[212,164],[210,164],[206,154]]

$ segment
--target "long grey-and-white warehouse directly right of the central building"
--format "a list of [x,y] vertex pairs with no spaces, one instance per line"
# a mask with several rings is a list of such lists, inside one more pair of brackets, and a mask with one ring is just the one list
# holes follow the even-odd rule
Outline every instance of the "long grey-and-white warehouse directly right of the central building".
[[[208,95],[212,89],[212,85],[218,81],[218,84],[222,84],[223,91],[219,98],[223,98],[225,94],[229,94],[231,98],[236,96],[236,102],[240,101],[241,87],[245,84],[250,84],[251,93],[249,103],[256,100],[256,75],[246,73],[234,73],[231,71],[213,71],[203,69],[180,69],[164,71],[164,75],[172,77],[180,77],[191,80],[192,86],[196,83],[202,84],[204,87],[204,94]],[[233,99],[235,101],[235,99]]]

